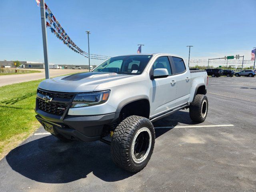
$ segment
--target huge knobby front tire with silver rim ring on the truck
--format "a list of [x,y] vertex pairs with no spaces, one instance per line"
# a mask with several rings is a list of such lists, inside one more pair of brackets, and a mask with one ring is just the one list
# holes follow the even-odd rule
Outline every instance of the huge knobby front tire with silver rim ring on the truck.
[[[151,134],[151,145],[150,143],[148,143],[148,148],[146,148],[147,153],[142,156],[142,159],[143,157],[145,159],[141,162],[135,162],[135,154],[132,150],[132,146],[136,145],[134,138],[136,134],[141,134],[142,132],[144,132],[145,129]],[[148,132],[146,132],[146,134],[148,134],[149,136]],[[148,164],[148,161],[150,160],[150,157],[154,150],[154,144],[155,131],[151,121],[145,117],[135,115],[129,116],[122,120],[122,122],[120,122],[120,124],[118,124],[118,126],[114,130],[110,148],[112,160],[117,166],[123,168],[124,170],[127,170],[129,172],[139,172]],[[135,160],[138,161],[138,159],[136,158]]]

